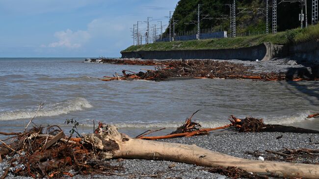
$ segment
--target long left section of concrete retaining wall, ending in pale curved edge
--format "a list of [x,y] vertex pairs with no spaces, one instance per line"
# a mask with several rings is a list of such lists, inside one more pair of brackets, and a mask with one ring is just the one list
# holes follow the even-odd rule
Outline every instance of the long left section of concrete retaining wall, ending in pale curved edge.
[[180,50],[180,51],[132,51],[121,52],[122,58],[142,59],[239,59],[239,60],[269,60],[276,54],[270,43],[238,49],[218,50]]

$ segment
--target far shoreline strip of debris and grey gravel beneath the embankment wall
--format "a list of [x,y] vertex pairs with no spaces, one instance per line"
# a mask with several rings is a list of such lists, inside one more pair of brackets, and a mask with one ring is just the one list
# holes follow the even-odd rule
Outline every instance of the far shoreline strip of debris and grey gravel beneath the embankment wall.
[[[147,72],[131,72],[123,76],[98,78],[102,81],[146,79],[161,81],[169,78],[239,78],[265,81],[276,80],[317,80],[319,65],[292,57],[274,58],[267,61],[220,60],[220,59],[165,59],[146,60],[140,58],[98,58],[85,59],[84,62],[108,63],[119,65],[155,66],[156,70]],[[191,68],[191,69],[189,69]],[[117,72],[119,73],[119,72]],[[160,76],[160,77],[159,77]]]

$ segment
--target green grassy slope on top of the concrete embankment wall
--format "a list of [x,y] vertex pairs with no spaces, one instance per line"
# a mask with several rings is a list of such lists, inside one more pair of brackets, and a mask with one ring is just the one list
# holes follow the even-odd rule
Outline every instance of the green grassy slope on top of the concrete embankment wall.
[[131,46],[127,51],[171,51],[171,50],[199,50],[199,49],[229,49],[256,46],[264,42],[273,44],[301,43],[319,39],[319,24],[305,29],[292,29],[277,34],[255,35],[249,37],[160,42],[142,46]]

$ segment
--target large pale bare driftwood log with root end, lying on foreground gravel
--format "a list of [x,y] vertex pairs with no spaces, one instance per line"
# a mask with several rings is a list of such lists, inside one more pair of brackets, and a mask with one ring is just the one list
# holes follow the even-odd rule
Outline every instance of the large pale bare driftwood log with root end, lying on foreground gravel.
[[100,128],[97,134],[84,135],[83,142],[100,149],[102,152],[99,156],[105,159],[170,160],[206,167],[234,166],[252,173],[280,174],[284,178],[319,178],[319,165],[249,160],[205,150],[196,145],[133,139],[108,125]]

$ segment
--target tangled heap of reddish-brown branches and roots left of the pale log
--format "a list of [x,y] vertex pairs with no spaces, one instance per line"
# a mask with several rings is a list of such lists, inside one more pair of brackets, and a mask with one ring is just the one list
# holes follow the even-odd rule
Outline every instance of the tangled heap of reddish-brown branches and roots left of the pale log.
[[91,146],[80,143],[80,138],[65,136],[57,126],[46,128],[44,133],[42,127],[34,127],[14,135],[10,137],[15,139],[11,144],[1,141],[1,157],[9,155],[11,158],[10,167],[1,178],[8,172],[32,178],[61,178],[78,174],[113,175],[115,170],[121,169],[99,158]]

